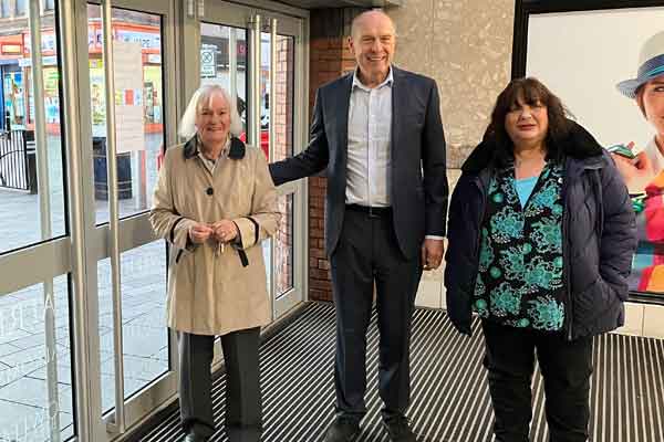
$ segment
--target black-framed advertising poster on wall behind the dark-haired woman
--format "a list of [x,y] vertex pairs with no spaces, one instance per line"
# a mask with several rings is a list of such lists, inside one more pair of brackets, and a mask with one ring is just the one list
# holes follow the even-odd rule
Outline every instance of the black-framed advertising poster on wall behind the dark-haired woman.
[[636,212],[630,290],[664,296],[664,2],[549,3],[516,30],[515,74],[542,81],[612,152]]

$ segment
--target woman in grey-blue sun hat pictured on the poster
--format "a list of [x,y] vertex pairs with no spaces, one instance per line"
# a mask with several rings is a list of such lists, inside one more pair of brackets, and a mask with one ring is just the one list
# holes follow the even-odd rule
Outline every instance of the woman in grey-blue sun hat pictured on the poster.
[[633,143],[610,147],[636,211],[639,249],[630,285],[640,292],[664,292],[664,31],[645,41],[636,75],[616,88],[634,101],[654,133],[639,152]]

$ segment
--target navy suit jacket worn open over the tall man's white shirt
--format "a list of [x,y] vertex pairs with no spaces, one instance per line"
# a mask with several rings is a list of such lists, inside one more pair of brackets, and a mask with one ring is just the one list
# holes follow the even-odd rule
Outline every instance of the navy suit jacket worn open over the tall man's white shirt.
[[[425,235],[445,235],[447,172],[438,88],[432,78],[392,66],[391,201],[402,253],[415,257]],[[326,169],[325,246],[334,252],[345,210],[349,103],[353,74],[317,91],[304,151],[270,165],[277,186]]]

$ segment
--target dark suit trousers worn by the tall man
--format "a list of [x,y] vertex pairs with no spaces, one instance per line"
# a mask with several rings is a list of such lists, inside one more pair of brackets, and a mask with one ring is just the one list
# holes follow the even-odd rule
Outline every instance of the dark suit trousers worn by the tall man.
[[422,265],[419,255],[403,256],[392,223],[391,213],[372,215],[346,208],[341,238],[330,257],[336,309],[336,413],[356,420],[366,413],[366,329],[374,282],[383,417],[403,414],[411,396],[411,316]]

